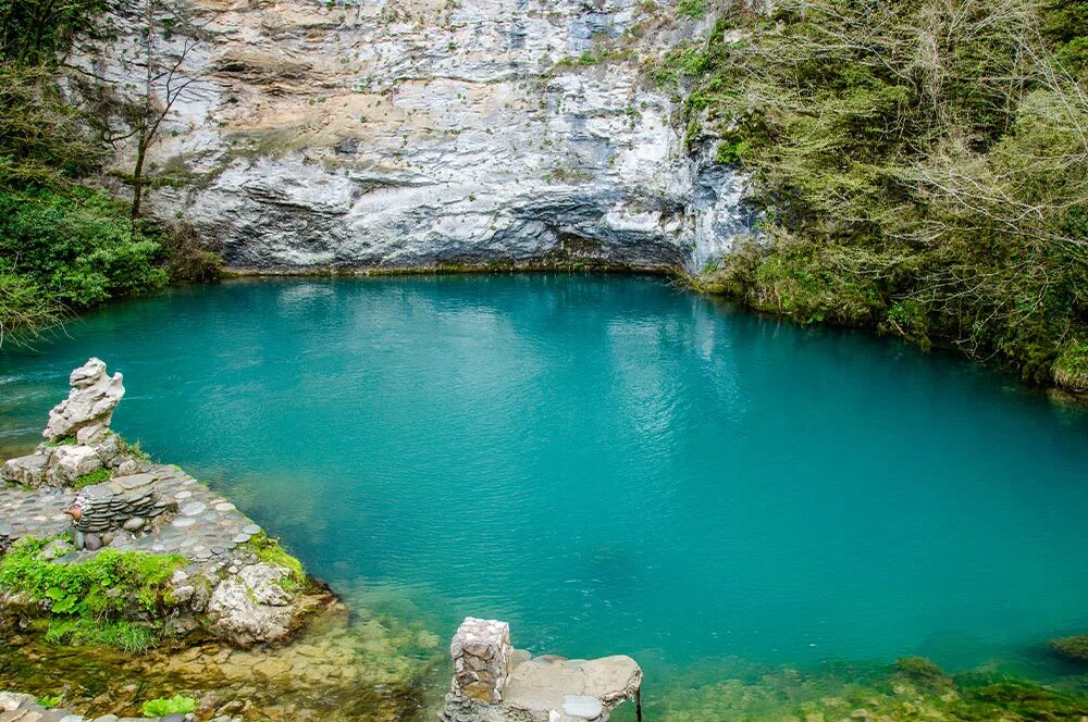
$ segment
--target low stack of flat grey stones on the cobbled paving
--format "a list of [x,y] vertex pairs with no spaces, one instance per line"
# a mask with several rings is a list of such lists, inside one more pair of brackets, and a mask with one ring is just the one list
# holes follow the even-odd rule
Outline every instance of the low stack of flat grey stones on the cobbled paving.
[[[79,491],[73,505],[81,512],[75,522],[77,531],[100,534],[124,527],[143,528],[144,522],[168,511],[170,503],[154,494],[153,474],[119,476],[88,486]],[[133,524],[139,520],[139,524]],[[129,528],[133,527],[133,528]]]

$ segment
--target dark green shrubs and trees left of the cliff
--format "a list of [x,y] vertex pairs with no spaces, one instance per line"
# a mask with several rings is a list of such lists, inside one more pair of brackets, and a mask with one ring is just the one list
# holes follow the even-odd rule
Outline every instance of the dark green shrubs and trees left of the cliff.
[[172,276],[213,276],[218,257],[84,184],[110,154],[109,128],[102,109],[61,91],[60,61],[74,36],[91,30],[101,3],[0,7],[0,343]]

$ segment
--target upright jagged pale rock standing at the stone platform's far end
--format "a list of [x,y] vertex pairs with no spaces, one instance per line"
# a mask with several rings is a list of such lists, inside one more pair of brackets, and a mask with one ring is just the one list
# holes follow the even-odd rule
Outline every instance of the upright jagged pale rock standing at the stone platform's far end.
[[49,423],[41,433],[57,441],[75,436],[81,445],[99,444],[106,439],[113,410],[125,395],[120,373],[106,373],[106,363],[89,359],[69,377],[72,389],[66,399],[49,412]]

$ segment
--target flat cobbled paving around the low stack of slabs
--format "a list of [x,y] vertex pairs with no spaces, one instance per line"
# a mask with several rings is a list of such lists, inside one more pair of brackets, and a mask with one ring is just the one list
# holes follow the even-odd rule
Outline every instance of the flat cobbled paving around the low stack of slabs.
[[[133,535],[118,530],[112,544],[103,548],[181,555],[194,562],[207,562],[261,532],[237,507],[177,466],[156,465],[146,474],[154,480],[156,498],[170,509],[176,508],[176,512],[164,514],[164,521],[147,533]],[[126,478],[119,476],[98,486],[124,487]],[[64,510],[75,498],[74,493],[0,488],[0,545],[23,536],[55,536],[71,530],[72,519]],[[59,561],[82,561],[97,553],[97,550],[74,551]]]

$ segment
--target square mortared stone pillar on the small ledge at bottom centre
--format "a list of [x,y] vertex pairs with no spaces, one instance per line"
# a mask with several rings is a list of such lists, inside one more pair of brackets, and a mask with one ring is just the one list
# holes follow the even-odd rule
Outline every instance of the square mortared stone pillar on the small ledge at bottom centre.
[[503,688],[514,669],[509,624],[467,617],[449,653],[454,658],[454,686],[461,695],[485,705],[503,701]]

